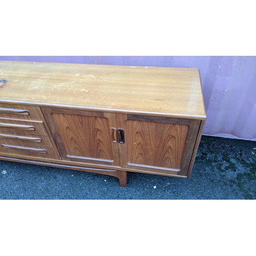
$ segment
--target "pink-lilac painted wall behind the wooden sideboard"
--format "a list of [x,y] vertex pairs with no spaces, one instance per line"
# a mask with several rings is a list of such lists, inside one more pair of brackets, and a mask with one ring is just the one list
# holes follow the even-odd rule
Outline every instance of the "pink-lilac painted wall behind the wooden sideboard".
[[207,111],[203,134],[256,141],[256,56],[0,56],[0,60],[199,68]]

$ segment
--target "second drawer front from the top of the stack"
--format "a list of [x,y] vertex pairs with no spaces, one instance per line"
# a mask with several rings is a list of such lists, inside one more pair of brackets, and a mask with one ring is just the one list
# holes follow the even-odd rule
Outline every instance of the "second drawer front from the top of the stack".
[[30,134],[48,136],[42,121],[27,121],[0,118],[0,133]]

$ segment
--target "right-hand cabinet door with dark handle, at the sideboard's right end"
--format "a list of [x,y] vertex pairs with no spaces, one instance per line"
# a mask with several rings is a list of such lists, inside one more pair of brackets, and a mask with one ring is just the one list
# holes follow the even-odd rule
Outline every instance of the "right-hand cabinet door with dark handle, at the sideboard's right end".
[[187,176],[200,120],[116,114],[121,166],[152,174]]

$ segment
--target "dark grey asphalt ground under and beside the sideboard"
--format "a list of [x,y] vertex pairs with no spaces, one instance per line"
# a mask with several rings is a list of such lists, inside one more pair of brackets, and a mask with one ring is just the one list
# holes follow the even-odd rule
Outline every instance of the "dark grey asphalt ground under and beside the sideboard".
[[190,178],[115,177],[0,161],[0,199],[256,199],[256,142],[202,136]]

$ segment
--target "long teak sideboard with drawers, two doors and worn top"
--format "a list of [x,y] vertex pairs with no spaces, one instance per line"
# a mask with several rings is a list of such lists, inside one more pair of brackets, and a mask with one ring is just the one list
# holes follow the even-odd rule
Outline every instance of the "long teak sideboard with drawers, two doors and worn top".
[[205,120],[198,69],[0,61],[0,160],[187,178]]

